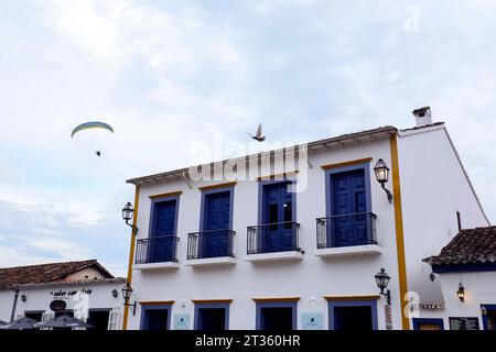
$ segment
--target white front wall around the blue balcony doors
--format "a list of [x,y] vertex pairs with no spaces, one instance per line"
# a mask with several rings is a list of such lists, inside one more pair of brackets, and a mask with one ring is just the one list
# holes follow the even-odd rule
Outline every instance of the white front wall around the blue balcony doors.
[[[316,249],[315,218],[325,217],[325,164],[373,157],[370,162],[371,210],[377,215],[377,238],[384,252],[375,255],[357,255],[339,258],[321,258],[314,255]],[[373,167],[378,158],[389,165],[389,139],[360,143],[354,146],[312,154],[309,170],[309,187],[296,195],[296,221],[301,223],[300,243],[305,251],[302,261],[252,264],[246,262],[248,226],[258,223],[258,183],[239,182],[234,193],[234,230],[237,263],[231,266],[192,268],[186,260],[187,233],[198,231],[201,191],[196,188],[208,183],[195,183],[190,189],[186,183],[147,186],[141,188],[138,213],[139,238],[148,238],[151,201],[149,196],[183,191],[180,198],[177,235],[180,244],[176,271],[133,271],[133,299],[138,301],[174,300],[172,314],[187,312],[192,319],[192,299],[233,299],[230,305],[230,329],[255,329],[256,304],[254,297],[301,297],[298,312],[320,311],[324,314],[327,328],[327,304],[323,296],[377,295],[374,275],[386,267],[392,279],[393,327],[400,329],[398,300],[398,272],[395,240],[393,206],[390,205],[375,180]],[[314,298],[314,299],[313,299]],[[314,301],[314,305],[313,305]],[[378,324],[385,328],[384,298],[378,301]],[[183,308],[184,307],[184,308]],[[129,329],[140,328],[140,307],[130,316]],[[299,321],[300,327],[300,321]]]

